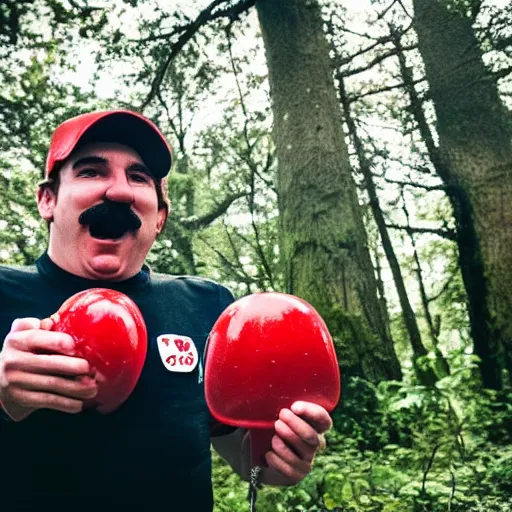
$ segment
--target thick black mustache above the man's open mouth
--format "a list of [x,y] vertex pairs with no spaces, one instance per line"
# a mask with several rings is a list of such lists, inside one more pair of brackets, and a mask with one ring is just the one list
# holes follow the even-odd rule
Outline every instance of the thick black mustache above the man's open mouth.
[[78,221],[90,226],[91,234],[100,238],[119,238],[128,231],[137,231],[142,225],[129,204],[109,200],[82,212]]

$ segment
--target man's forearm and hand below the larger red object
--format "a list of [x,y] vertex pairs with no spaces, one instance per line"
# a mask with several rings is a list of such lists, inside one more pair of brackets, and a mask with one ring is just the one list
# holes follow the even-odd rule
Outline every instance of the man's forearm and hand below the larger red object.
[[[268,468],[263,468],[260,481],[267,485],[295,485],[311,472],[313,460],[322,446],[322,434],[331,428],[327,411],[309,402],[295,402],[282,409],[275,423],[272,449],[265,455]],[[212,438],[218,454],[249,481],[251,447],[249,432],[238,429],[232,434]]]

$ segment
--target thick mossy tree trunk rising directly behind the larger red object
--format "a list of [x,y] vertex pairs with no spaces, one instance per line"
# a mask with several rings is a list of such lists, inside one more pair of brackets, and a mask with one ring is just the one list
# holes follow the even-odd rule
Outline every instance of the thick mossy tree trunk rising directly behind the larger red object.
[[400,379],[377,298],[319,6],[316,0],[259,0],[256,7],[274,112],[287,291],[325,318],[345,375]]

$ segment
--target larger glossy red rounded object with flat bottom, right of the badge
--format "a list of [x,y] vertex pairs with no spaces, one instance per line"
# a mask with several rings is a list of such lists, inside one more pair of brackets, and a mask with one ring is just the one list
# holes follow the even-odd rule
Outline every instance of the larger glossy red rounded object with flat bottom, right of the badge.
[[325,322],[293,295],[265,292],[231,304],[208,340],[205,393],[213,416],[228,425],[273,429],[297,400],[332,411],[340,373]]

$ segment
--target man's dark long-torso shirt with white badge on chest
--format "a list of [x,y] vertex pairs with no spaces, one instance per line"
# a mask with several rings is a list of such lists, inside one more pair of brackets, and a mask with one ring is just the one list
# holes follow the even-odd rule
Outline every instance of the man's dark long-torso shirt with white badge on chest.
[[[0,267],[0,343],[15,318],[46,318],[87,288],[112,288],[139,307],[148,352],[139,382],[115,412],[38,410],[0,422],[0,509],[191,510],[213,508],[210,435],[202,358],[208,334],[233,301],[195,277],[139,274],[121,283],[79,278],[44,254],[36,268]],[[157,338],[190,337],[200,356],[191,373],[169,371]],[[215,428],[216,434],[232,429]]]

